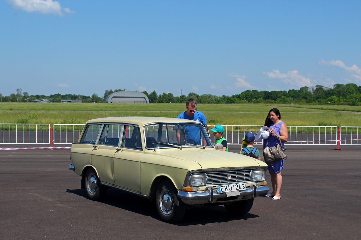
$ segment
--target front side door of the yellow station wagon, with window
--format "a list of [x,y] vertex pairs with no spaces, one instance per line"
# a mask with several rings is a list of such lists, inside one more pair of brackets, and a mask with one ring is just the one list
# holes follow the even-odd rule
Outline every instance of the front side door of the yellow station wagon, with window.
[[138,126],[124,125],[119,151],[114,155],[115,185],[140,193],[140,159],[144,152]]

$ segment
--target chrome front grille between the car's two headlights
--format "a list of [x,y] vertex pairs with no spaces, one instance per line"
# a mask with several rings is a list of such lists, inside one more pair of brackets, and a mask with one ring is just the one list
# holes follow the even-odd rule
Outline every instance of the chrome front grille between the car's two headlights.
[[[229,172],[207,172],[207,185],[227,184],[232,182],[250,182],[251,170]],[[230,176],[230,179],[229,179]]]

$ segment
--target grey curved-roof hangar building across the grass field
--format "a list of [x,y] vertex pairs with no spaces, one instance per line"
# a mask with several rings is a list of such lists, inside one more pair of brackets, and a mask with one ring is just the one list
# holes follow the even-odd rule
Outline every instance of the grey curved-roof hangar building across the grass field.
[[137,91],[120,91],[109,94],[106,103],[149,103],[147,95]]

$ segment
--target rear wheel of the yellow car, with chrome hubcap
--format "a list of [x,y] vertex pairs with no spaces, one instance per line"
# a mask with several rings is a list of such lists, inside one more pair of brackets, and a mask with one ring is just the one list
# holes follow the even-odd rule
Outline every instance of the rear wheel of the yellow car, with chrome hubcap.
[[89,169],[85,175],[85,189],[88,197],[93,201],[100,201],[106,194],[107,187],[100,184],[94,169]]

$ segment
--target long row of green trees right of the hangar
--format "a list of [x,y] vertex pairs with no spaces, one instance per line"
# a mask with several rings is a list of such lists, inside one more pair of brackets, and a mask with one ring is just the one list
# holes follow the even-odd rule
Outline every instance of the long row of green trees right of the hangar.
[[299,104],[342,104],[361,105],[361,86],[355,83],[335,84],[333,88],[316,85],[301,87],[299,90],[288,91],[257,91],[246,90],[232,96],[215,96],[210,94],[198,95],[194,92],[188,96],[173,96],[171,93],[156,94],[153,91],[148,94],[151,103],[184,103],[187,99],[196,99],[198,103],[299,103]]

